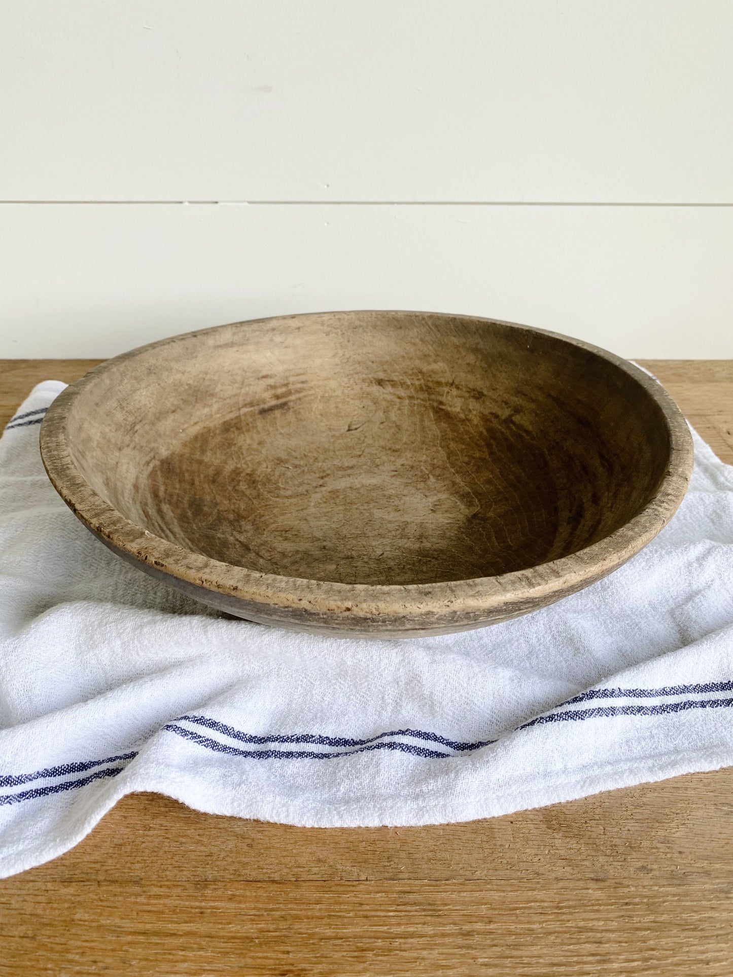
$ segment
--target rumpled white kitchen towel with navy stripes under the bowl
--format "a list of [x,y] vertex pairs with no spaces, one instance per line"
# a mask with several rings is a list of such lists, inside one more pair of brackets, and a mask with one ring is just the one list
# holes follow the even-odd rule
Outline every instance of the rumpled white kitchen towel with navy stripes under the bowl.
[[38,451],[64,385],[0,441],[0,875],[122,795],[294,825],[505,814],[733,764],[733,468],[621,570],[533,615],[407,641],[207,611],[77,522]]

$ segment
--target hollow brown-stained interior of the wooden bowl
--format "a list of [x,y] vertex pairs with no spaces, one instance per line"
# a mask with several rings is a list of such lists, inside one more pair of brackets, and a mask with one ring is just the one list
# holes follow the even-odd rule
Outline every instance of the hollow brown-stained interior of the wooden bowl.
[[113,362],[69,414],[127,519],[262,573],[411,584],[568,556],[652,498],[661,408],[625,369],[485,319],[342,313],[206,330]]

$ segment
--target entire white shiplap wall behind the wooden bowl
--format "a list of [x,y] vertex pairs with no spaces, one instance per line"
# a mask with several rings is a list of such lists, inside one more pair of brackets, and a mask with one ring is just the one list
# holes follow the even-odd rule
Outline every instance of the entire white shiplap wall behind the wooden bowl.
[[0,357],[334,308],[733,357],[730,0],[5,0],[2,21]]

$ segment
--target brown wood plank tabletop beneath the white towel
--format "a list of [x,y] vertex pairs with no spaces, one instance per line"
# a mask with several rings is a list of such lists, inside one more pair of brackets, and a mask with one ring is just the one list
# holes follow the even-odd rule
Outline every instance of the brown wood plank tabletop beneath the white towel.
[[[3,423],[38,380],[95,362],[0,361]],[[733,361],[643,364],[733,463]],[[428,828],[134,794],[0,881],[0,974],[731,977],[731,923],[733,768]]]

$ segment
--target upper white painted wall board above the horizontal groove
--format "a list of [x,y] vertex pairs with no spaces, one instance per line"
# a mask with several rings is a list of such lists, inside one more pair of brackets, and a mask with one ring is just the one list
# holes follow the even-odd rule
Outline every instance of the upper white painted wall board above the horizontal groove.
[[732,202],[731,37],[730,0],[4,0],[0,198]]

